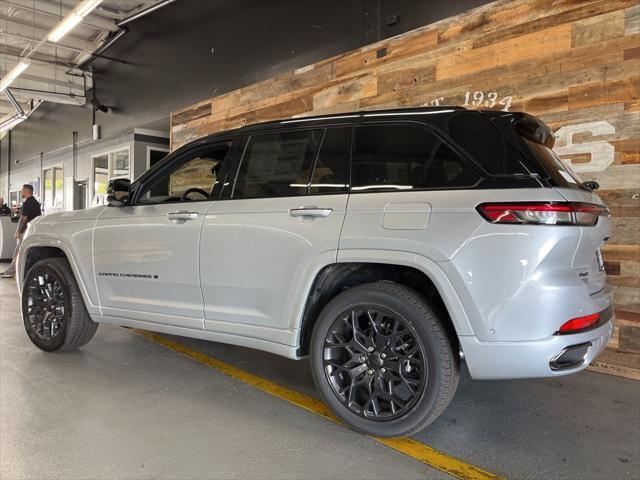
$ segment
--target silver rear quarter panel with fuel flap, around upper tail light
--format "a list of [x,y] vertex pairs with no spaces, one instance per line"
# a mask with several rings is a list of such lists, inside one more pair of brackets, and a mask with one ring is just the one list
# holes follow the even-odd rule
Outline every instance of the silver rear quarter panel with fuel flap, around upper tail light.
[[[402,252],[436,283],[458,335],[476,335],[485,341],[544,338],[549,335],[549,323],[540,321],[545,314],[540,302],[551,301],[546,311],[551,315],[572,288],[576,294],[584,293],[584,284],[571,269],[579,229],[496,226],[476,211],[484,202],[512,201],[564,198],[551,188],[352,194],[338,261],[354,261],[359,250],[370,250],[377,252],[379,261],[392,263]],[[389,212],[402,212],[404,217],[389,222]],[[420,215],[423,222],[418,221]],[[368,258],[376,261],[371,255]],[[445,291],[445,282],[435,281],[430,262],[443,272],[451,292]],[[554,294],[553,289],[541,289],[539,280],[544,275],[569,290]],[[457,304],[462,310],[453,308]]]

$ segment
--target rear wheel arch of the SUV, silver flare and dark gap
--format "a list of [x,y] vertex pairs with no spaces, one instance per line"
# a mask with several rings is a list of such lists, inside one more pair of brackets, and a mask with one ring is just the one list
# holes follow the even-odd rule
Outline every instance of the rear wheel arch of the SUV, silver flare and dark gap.
[[350,252],[338,263],[326,265],[317,272],[307,292],[300,320],[298,356],[308,355],[318,315],[332,298],[351,287],[375,281],[399,283],[429,298],[444,313],[443,323],[454,345],[459,345],[459,336],[473,335],[462,303],[435,262],[426,258],[416,261],[415,254],[385,252],[395,254],[395,258],[385,258],[380,253]]

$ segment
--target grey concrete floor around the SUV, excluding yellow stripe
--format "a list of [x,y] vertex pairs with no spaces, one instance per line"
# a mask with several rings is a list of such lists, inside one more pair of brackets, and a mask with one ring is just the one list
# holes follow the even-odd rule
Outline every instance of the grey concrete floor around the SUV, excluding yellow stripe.
[[[452,478],[130,331],[45,354],[0,280],[0,479]],[[317,396],[306,361],[176,338]],[[639,479],[640,382],[472,381],[416,435],[507,478]]]

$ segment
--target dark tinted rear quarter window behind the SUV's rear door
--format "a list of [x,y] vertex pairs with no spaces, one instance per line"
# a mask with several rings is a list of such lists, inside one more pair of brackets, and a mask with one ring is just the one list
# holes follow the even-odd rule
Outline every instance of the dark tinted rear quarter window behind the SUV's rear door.
[[480,176],[442,140],[414,124],[355,129],[352,190],[464,188]]

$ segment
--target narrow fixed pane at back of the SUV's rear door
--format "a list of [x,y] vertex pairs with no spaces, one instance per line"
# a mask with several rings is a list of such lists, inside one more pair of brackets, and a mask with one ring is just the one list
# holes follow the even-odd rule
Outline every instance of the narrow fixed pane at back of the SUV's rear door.
[[349,190],[351,127],[329,128],[316,158],[309,193],[336,193]]

